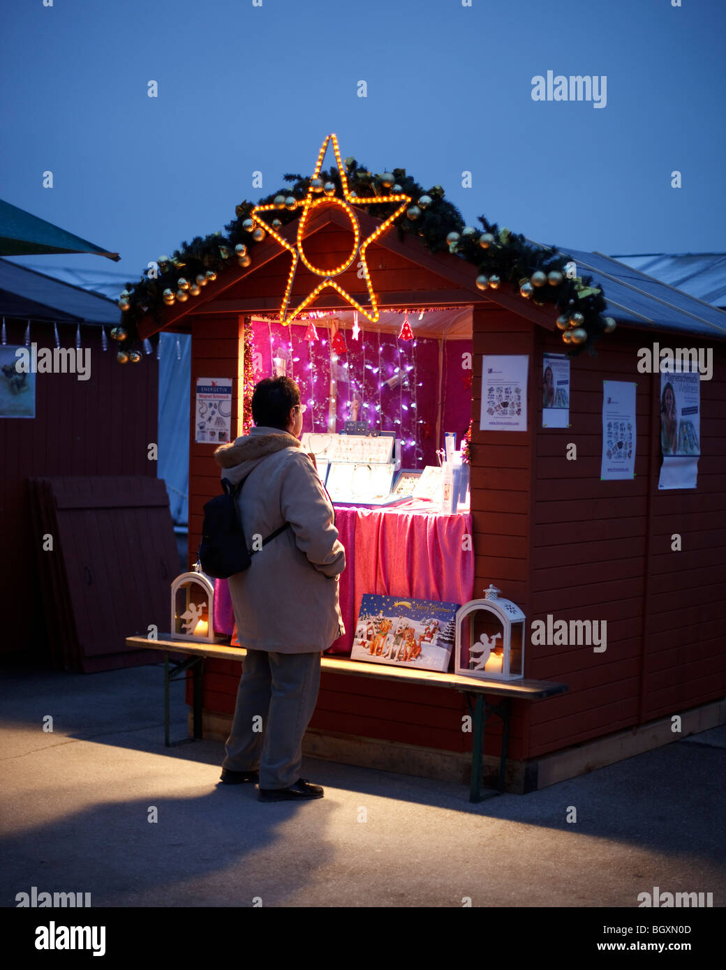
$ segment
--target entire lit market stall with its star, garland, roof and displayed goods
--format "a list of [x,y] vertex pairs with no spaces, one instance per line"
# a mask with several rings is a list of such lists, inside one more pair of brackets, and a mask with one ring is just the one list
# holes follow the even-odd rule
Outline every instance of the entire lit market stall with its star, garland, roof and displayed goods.
[[[323,170],[328,142],[336,165]],[[676,712],[686,729],[717,723],[726,693],[723,314],[485,217],[479,230],[465,226],[441,186],[344,161],[332,136],[313,175],[289,183],[238,206],[225,236],[160,258],[158,274],[121,300],[121,362],[159,330],[192,335],[189,565],[203,505],[219,490],[214,447],[247,430],[256,380],[286,373],[308,404],[304,445],[327,463],[347,548],[347,633],[332,655],[355,658],[357,642],[363,663],[415,663],[426,637],[416,656],[413,646],[401,653],[402,637],[392,657],[384,611],[395,624],[408,600],[463,609],[493,584],[511,617],[470,637],[479,654],[471,650],[467,669],[503,675],[497,637],[519,624],[509,661],[518,651],[523,669],[510,673],[569,686],[534,707],[514,704],[518,791],[666,743]],[[696,360],[710,351],[712,379],[644,371],[644,345],[683,338]],[[366,482],[356,466],[369,468]],[[426,495],[426,479],[438,477],[446,481]],[[210,623],[230,635],[224,584],[214,585],[214,615],[202,623],[207,635]],[[368,611],[366,597],[378,598]],[[432,614],[427,630],[450,636],[453,670],[466,618],[447,616]],[[238,663],[206,662],[205,727],[220,737],[238,679]],[[454,777],[472,745],[464,714],[457,695],[326,671],[307,750]],[[493,725],[488,759],[500,743]]]

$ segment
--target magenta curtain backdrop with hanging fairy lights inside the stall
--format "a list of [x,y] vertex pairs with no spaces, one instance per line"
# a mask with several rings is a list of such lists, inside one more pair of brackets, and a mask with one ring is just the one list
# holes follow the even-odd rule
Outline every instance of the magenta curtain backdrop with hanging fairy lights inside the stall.
[[[361,322],[365,320],[361,317]],[[330,332],[323,318],[314,320],[318,340],[305,339],[308,323],[252,322],[254,379],[275,375],[273,358],[285,361],[285,373],[300,386],[308,411],[303,431],[328,431],[332,390],[336,398],[336,431],[351,419],[351,404],[360,401],[358,420],[380,431],[395,431],[401,438],[401,467],[423,469],[436,465],[436,449],[444,447],[444,433],[456,434],[457,447],[469,427],[472,414],[471,370],[462,367],[462,354],[472,350],[471,339],[439,340],[417,337],[399,340],[395,334],[379,334],[361,327],[358,339],[343,330],[347,352],[331,366]],[[439,348],[442,347],[441,391]],[[257,356],[258,355],[258,356]],[[347,365],[347,366],[345,366]],[[406,374],[408,386],[389,387],[396,370]],[[382,385],[382,386],[381,386]],[[442,427],[437,441],[437,402],[441,393]]]

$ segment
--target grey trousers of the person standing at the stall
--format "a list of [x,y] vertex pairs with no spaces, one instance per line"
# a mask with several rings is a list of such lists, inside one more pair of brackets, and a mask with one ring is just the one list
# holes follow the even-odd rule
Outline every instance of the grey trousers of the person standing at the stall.
[[[294,785],[320,688],[320,654],[247,650],[222,767],[259,769],[259,787]],[[261,729],[260,729],[261,728]]]

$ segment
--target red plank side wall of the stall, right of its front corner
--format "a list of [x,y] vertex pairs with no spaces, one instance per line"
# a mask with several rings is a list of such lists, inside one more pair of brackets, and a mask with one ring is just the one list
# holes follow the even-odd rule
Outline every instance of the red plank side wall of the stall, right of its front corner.
[[[698,488],[658,493],[660,375],[637,370],[652,335],[618,329],[571,367],[569,429],[543,429],[542,353],[562,352],[537,334],[532,610],[528,619],[607,621],[607,651],[533,647],[527,676],[564,680],[570,691],[531,713],[531,757],[644,724],[726,692],[726,373],[714,347],[713,378],[701,381]],[[661,345],[705,346],[687,335]],[[602,381],[637,382],[636,477],[600,480]],[[567,445],[577,461],[566,458]],[[671,535],[683,551],[671,551]],[[531,625],[530,625],[531,630]],[[719,630],[721,630],[719,635]]]

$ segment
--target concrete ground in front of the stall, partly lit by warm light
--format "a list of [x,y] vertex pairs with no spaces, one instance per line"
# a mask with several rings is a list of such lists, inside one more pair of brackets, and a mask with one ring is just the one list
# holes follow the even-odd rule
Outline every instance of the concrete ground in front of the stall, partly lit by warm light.
[[[637,907],[653,887],[726,903],[726,727],[478,805],[462,785],[307,759],[324,798],[261,804],[218,784],[219,742],[164,748],[162,677],[5,671],[0,906],[33,886],[94,907]],[[182,738],[181,682],[172,695]]]

